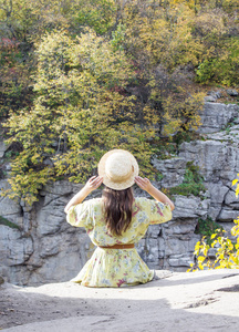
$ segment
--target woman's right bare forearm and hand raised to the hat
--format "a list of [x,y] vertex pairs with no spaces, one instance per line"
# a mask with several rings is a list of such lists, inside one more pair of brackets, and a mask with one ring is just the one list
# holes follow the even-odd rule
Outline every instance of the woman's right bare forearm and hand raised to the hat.
[[135,177],[135,183],[141,187],[143,190],[147,191],[152,197],[154,197],[156,200],[162,201],[164,204],[168,203],[170,206],[172,211],[175,208],[174,203],[160,190],[155,188],[148,178],[143,178],[141,176]]

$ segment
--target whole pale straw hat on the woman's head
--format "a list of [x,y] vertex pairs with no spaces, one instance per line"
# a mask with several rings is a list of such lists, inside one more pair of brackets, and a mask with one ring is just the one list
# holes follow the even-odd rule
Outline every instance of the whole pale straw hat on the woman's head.
[[129,152],[112,149],[101,158],[98,175],[103,176],[103,184],[108,188],[123,190],[134,185],[138,164]]

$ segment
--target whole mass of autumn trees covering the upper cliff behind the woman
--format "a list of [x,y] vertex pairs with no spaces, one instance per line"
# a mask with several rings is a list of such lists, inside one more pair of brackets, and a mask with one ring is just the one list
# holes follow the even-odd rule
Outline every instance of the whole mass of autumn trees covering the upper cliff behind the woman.
[[[200,125],[195,82],[238,84],[236,13],[236,0],[4,0],[0,116],[9,149],[20,145],[10,197],[84,180],[113,147],[150,176],[155,151]],[[175,190],[200,193],[190,176]]]

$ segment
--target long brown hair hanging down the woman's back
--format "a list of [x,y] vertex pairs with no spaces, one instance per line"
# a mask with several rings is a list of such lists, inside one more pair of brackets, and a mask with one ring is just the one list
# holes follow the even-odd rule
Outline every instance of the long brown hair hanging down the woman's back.
[[132,188],[103,190],[106,227],[112,235],[121,236],[132,220],[134,194]]

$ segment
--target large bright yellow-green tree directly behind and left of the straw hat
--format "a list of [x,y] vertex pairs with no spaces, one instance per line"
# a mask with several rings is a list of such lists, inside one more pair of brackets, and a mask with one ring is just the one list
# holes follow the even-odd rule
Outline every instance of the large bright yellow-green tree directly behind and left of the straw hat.
[[134,96],[124,92],[134,77],[124,52],[113,51],[93,31],[75,39],[61,31],[46,34],[37,53],[38,97],[31,110],[11,113],[6,124],[8,144],[23,147],[12,162],[6,194],[32,204],[42,185],[55,177],[85,180],[114,147],[132,151],[148,175],[147,139],[154,131],[147,118],[145,126],[137,124]]

